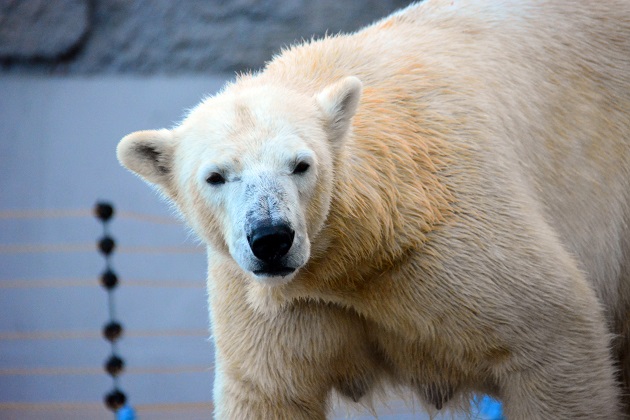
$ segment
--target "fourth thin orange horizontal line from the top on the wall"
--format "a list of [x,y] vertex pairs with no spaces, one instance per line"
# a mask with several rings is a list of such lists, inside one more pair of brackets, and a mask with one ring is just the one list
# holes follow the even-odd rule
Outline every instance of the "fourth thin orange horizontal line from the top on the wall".
[[[124,325],[123,325],[124,327]],[[209,338],[208,330],[124,330],[123,338],[162,338],[162,337],[204,337]],[[92,340],[104,339],[100,331],[6,331],[0,332],[0,341],[18,340]]]

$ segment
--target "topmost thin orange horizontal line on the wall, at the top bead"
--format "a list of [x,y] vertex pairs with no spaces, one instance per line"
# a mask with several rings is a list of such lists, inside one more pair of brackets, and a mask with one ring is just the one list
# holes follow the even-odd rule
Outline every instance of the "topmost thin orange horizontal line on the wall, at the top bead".
[[[91,217],[96,219],[94,211],[91,209],[36,209],[36,210],[0,210],[0,220],[19,220],[19,219],[67,219],[67,218],[85,218]],[[182,223],[175,218],[156,216],[152,214],[137,213],[132,211],[115,211],[114,218],[137,220],[140,222],[149,222],[162,225],[181,225]]]

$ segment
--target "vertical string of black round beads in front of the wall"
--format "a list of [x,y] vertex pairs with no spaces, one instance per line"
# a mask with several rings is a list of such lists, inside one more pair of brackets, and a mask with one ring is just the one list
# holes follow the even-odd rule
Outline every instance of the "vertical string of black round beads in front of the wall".
[[116,242],[109,234],[108,222],[114,216],[114,208],[109,203],[97,203],[94,208],[96,217],[103,222],[103,237],[98,241],[98,249],[105,257],[105,271],[101,274],[101,286],[107,290],[109,322],[103,327],[103,336],[111,343],[112,353],[105,362],[105,371],[114,380],[114,389],[105,395],[105,405],[116,412],[127,402],[127,396],[118,387],[118,375],[125,367],[125,362],[116,353],[116,341],[123,333],[123,327],[115,320],[114,289],[118,286],[118,276],[112,270],[110,257],[116,248]]

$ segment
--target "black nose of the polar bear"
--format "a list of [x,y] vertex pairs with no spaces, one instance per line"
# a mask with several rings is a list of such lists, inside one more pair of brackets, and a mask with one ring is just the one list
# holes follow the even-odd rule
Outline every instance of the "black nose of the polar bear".
[[271,263],[289,252],[294,236],[295,232],[286,224],[265,224],[254,228],[251,234],[247,235],[247,241],[256,258]]

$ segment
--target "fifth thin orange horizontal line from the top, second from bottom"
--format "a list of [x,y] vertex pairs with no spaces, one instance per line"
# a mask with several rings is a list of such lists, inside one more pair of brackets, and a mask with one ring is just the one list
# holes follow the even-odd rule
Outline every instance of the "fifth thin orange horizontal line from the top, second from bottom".
[[[211,365],[200,366],[148,366],[126,367],[122,375],[178,375],[185,373],[210,373]],[[37,367],[4,368],[0,376],[89,376],[107,375],[102,367]]]

